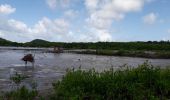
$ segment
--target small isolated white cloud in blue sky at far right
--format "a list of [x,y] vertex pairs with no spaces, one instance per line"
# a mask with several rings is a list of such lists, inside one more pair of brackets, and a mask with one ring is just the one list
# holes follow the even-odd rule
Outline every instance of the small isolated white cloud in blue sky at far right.
[[154,24],[157,20],[157,16],[155,13],[150,13],[143,17],[143,22],[146,24]]

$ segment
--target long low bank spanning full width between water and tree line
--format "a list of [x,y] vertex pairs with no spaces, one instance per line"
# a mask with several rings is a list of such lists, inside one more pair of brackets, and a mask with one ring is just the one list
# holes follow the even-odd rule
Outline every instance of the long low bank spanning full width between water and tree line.
[[24,51],[40,51],[43,53],[76,53],[76,54],[92,54],[105,56],[122,56],[122,57],[140,57],[152,59],[170,59],[170,51],[167,50],[105,50],[105,49],[63,49],[62,52],[53,51],[54,48],[39,47],[0,47],[0,50],[24,50]]

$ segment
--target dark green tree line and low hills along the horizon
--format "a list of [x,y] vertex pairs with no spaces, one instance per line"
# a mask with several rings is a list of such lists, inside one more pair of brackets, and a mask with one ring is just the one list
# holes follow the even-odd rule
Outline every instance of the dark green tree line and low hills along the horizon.
[[66,49],[106,49],[106,50],[170,50],[169,41],[148,41],[148,42],[49,42],[36,39],[26,43],[16,43],[0,39],[1,46],[23,46],[23,47],[54,47],[60,46]]

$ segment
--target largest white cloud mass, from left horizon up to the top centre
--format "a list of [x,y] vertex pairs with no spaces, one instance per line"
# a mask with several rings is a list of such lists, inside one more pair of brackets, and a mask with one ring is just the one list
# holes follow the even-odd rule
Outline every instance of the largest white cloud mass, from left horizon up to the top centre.
[[[48,6],[53,10],[58,8],[69,9],[64,9],[63,15],[59,19],[52,20],[44,17],[31,27],[22,21],[14,19],[5,21],[0,19],[0,36],[7,36],[7,38],[14,41],[21,39],[21,37],[23,39],[21,41],[29,41],[36,38],[69,42],[110,41],[114,38],[112,37],[113,32],[111,29],[113,22],[123,20],[127,13],[141,11],[144,4],[152,0],[84,0],[88,14],[84,14],[85,16],[81,16],[81,18],[88,16],[85,18],[85,22],[88,25],[84,26],[87,27],[86,29],[80,26],[79,31],[75,31],[79,28],[79,26],[76,26],[77,24],[79,25],[79,22],[73,23],[73,25],[75,24],[73,27],[68,22],[69,18],[75,18],[78,13],[84,11],[84,9],[80,12],[78,12],[79,9],[77,11],[73,10],[72,2],[75,1],[81,0],[46,0]],[[82,21],[82,19],[78,21]],[[73,30],[70,30],[70,26]]]

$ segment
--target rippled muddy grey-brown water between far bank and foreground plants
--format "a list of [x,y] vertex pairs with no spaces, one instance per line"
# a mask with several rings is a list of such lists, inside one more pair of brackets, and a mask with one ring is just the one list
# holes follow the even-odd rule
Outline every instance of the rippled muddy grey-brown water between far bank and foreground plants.
[[[24,67],[21,58],[27,54],[35,54],[35,67]],[[15,84],[10,81],[10,70],[14,69],[18,73],[29,76],[23,80],[21,85],[31,88],[33,82],[37,83],[38,90],[49,89],[51,83],[59,80],[65,74],[67,68],[78,69],[80,66],[83,70],[95,68],[97,71],[103,71],[111,68],[116,69],[123,64],[136,67],[148,60],[155,66],[166,67],[170,65],[170,59],[147,59],[134,57],[115,57],[115,56],[98,56],[73,53],[45,53],[43,51],[29,50],[0,50],[0,91],[12,90]]]

